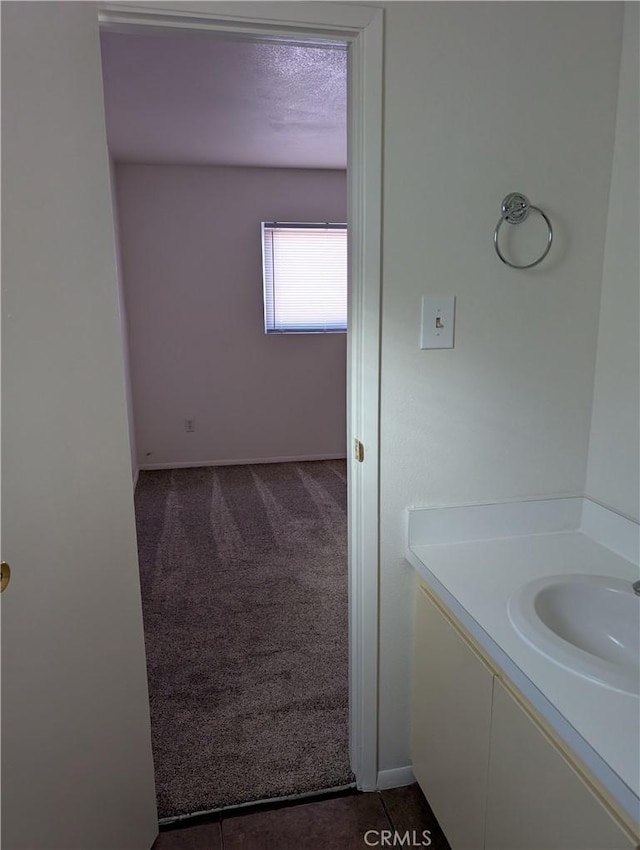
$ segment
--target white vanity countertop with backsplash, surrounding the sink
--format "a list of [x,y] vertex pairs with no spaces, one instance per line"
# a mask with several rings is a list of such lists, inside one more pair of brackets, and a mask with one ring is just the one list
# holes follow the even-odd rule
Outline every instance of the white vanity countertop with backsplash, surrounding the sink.
[[[414,509],[410,512],[414,516],[410,521],[406,557],[618,803],[638,820],[640,700],[558,666],[525,642],[507,614],[511,595],[537,578],[577,573],[629,581],[638,578],[637,566],[595,542],[584,529],[557,530],[575,525],[572,519],[548,524],[553,529],[548,533],[539,532],[539,517],[530,526],[526,521],[512,521],[518,505],[525,506],[525,512],[529,510],[533,514],[537,510],[540,514],[541,507],[548,511],[550,503],[555,502],[551,510],[565,513],[568,510],[575,515],[578,508],[575,503],[582,501],[544,500],[462,510]],[[464,530],[458,533],[463,527],[459,521],[465,519],[465,510],[473,512],[476,525],[483,525],[485,514],[489,522],[484,527],[492,527],[494,533],[504,531],[500,522],[496,525],[494,520],[495,511],[505,508],[510,514],[510,528],[515,526],[518,532],[535,528],[537,533],[471,540],[464,539],[469,536]],[[448,513],[451,511],[458,513]],[[457,530],[451,527],[451,516],[455,517]],[[445,527],[446,533],[442,531]],[[477,532],[470,531],[474,533]],[[456,537],[463,539],[457,542]],[[441,542],[443,538],[448,538],[447,542]],[[439,542],[429,543],[426,539]],[[628,554],[628,548],[619,548]]]

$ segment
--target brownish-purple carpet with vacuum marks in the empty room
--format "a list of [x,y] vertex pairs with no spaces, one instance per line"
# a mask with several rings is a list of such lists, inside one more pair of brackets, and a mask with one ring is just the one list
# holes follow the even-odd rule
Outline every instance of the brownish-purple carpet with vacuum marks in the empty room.
[[353,781],[344,461],[142,472],[161,818]]

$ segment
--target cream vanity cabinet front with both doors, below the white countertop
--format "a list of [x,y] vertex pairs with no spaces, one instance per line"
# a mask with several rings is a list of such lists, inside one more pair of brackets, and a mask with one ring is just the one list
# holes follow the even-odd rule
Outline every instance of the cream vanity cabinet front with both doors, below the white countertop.
[[420,586],[415,777],[452,850],[632,850],[630,828],[448,609]]

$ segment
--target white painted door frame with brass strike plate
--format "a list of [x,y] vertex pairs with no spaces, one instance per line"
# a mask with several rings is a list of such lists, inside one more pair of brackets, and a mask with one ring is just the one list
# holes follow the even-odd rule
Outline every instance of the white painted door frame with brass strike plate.
[[[97,3],[101,28],[227,33],[348,46],[349,321],[347,478],[349,757],[357,787],[378,786],[379,407],[383,20],[380,8],[324,2]],[[356,457],[356,440],[364,460]]]

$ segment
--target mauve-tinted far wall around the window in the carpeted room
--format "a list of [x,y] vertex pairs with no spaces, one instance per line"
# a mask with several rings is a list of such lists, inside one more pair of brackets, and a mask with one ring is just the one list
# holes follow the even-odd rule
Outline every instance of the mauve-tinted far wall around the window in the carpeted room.
[[344,456],[346,335],[265,335],[260,222],[346,221],[345,172],[118,164],[116,182],[140,466]]

